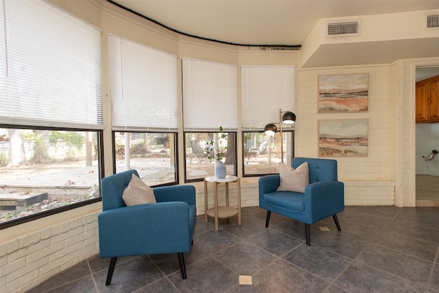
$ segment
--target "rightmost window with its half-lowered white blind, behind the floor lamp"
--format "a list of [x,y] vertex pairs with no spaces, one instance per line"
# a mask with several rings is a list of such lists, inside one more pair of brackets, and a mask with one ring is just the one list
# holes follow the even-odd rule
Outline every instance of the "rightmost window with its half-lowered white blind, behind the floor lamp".
[[279,109],[294,112],[294,99],[294,67],[241,67],[244,176],[277,173],[282,159],[291,164],[294,127],[284,124],[282,137],[279,132],[270,137],[262,131],[266,124],[279,126]]

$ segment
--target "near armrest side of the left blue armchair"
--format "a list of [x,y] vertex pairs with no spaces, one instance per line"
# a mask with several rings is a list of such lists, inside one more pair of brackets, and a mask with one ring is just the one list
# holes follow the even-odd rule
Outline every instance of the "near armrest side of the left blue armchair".
[[100,213],[98,222],[101,257],[188,252],[191,245],[186,202],[112,209]]

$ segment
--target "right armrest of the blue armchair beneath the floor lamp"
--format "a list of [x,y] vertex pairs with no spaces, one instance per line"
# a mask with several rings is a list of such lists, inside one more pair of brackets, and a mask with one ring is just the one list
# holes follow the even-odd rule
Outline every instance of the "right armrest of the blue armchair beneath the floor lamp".
[[305,210],[309,210],[311,223],[344,210],[344,183],[325,181],[305,187]]

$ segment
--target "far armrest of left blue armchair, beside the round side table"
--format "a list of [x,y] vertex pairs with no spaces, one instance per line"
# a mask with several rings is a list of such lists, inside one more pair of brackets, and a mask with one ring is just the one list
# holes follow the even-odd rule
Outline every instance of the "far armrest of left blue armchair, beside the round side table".
[[172,185],[154,187],[157,202],[187,202],[195,204],[195,187],[193,185]]

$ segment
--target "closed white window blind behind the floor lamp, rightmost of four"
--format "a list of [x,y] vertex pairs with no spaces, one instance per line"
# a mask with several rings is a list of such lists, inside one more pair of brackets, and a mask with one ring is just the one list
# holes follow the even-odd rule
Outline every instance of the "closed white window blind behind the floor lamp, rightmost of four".
[[279,109],[294,113],[294,67],[241,67],[241,124],[262,130],[279,121]]

